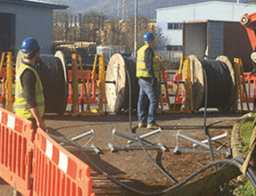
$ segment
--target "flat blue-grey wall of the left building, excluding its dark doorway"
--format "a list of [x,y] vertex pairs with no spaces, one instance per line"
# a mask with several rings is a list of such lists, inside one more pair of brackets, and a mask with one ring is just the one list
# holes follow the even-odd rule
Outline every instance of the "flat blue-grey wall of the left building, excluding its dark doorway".
[[16,15],[16,52],[19,50],[25,38],[34,37],[43,46],[41,53],[51,53],[53,40],[52,9],[1,3],[0,13],[12,13]]

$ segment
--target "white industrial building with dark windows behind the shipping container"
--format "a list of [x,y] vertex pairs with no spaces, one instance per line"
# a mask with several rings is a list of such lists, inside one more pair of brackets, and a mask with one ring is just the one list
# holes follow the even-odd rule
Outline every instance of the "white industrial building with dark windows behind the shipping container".
[[168,40],[166,45],[158,50],[181,51],[183,46],[184,21],[240,21],[247,13],[254,13],[256,5],[239,4],[224,1],[207,1],[186,6],[174,6],[156,9],[156,26],[161,29]]

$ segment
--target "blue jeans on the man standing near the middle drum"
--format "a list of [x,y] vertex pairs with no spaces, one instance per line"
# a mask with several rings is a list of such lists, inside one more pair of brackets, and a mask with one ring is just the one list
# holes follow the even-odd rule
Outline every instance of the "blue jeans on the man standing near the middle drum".
[[[156,110],[159,105],[159,96],[157,91],[157,82],[152,87],[151,78],[139,78],[139,100],[137,105],[137,114],[139,123],[156,124]],[[149,103],[149,112],[146,112],[146,106]]]

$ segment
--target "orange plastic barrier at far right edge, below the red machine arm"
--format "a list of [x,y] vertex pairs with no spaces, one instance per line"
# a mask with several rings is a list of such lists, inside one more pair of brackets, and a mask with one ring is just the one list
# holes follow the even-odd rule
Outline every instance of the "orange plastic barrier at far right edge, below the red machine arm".
[[[250,74],[249,72],[245,72],[245,82],[248,82],[248,89],[247,89],[247,96],[248,96],[248,102],[253,103],[253,100],[256,98],[256,75],[255,74]],[[242,81],[242,76],[241,76],[241,81]],[[251,85],[253,85],[253,94],[251,95]],[[242,89],[242,102],[246,102],[246,97],[245,97],[245,89]]]

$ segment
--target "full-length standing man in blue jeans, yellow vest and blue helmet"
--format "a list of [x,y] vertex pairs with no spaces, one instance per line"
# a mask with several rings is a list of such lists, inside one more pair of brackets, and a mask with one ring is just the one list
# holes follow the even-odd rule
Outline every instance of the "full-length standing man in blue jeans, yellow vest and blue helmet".
[[[156,48],[153,33],[146,32],[143,36],[145,45],[137,51],[136,76],[139,78],[139,100],[137,114],[139,127],[147,129],[159,129],[156,124],[156,110],[159,105],[158,79],[159,67],[157,65],[154,49]],[[147,112],[147,105],[149,111]]]

